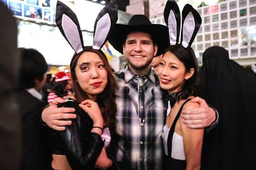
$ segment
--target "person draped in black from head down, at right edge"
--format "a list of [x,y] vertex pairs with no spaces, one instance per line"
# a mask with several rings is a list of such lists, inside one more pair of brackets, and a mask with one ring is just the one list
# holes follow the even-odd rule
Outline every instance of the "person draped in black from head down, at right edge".
[[253,169],[256,138],[256,78],[228,58],[220,46],[203,53],[199,90],[220,114],[219,124],[205,133],[202,169]]

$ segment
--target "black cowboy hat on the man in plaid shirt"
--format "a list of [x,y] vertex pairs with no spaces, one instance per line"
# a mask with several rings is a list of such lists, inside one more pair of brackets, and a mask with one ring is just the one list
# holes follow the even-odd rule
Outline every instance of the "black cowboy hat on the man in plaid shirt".
[[157,54],[161,55],[163,50],[170,45],[168,27],[160,24],[152,24],[145,15],[133,15],[128,25],[115,24],[109,34],[109,43],[120,53],[123,53],[123,44],[129,32],[148,32],[153,41],[158,45]]

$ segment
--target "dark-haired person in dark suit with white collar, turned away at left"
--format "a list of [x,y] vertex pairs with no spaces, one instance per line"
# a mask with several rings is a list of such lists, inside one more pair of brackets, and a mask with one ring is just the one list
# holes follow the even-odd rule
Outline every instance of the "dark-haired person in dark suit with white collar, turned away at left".
[[48,129],[40,124],[46,105],[40,91],[45,85],[47,63],[34,49],[20,48],[20,58],[19,87],[15,94],[22,122],[21,169],[47,170],[51,168]]

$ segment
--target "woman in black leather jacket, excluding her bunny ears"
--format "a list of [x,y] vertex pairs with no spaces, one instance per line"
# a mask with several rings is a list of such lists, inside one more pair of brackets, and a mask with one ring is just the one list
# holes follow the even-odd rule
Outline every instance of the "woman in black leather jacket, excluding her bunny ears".
[[[63,169],[62,165],[65,164],[70,166],[67,169],[93,169],[100,153],[100,168],[111,167],[113,164],[109,159],[113,158],[113,139],[109,138],[115,132],[116,105],[113,99],[115,80],[110,69],[104,53],[92,48],[74,55],[70,64],[74,96],[59,104],[59,107],[74,108],[77,118],[72,120],[65,131],[53,134],[54,169]],[[106,134],[102,135],[102,129]],[[101,135],[107,136],[105,143],[111,141],[106,147],[108,157],[106,151],[102,150],[104,141]]]

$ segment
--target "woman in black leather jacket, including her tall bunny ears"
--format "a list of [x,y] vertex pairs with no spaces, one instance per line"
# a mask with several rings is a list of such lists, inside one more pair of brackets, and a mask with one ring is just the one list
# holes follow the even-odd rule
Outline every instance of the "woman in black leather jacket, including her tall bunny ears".
[[74,96],[58,108],[60,112],[62,108],[76,110],[76,118],[67,120],[70,125],[65,131],[52,135],[53,169],[107,169],[113,165],[108,150],[115,133],[115,79],[100,48],[116,20],[116,1],[111,1],[96,19],[93,46],[84,46],[76,14],[57,2],[56,24],[75,50],[70,62]]

